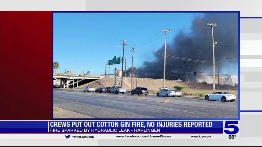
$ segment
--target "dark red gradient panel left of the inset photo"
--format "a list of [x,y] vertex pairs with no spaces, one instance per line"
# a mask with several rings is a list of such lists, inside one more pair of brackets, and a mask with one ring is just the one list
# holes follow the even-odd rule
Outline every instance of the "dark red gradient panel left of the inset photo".
[[0,12],[0,120],[52,120],[52,11]]

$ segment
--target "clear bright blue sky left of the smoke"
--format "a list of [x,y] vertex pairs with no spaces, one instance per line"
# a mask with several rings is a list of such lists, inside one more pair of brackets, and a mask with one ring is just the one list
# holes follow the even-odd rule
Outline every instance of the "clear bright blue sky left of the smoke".
[[[121,39],[128,40],[124,55],[127,69],[132,64],[131,47],[136,47],[134,66],[142,66],[143,61],[153,61],[152,52],[164,45],[161,29],[190,28],[195,15],[202,13],[54,13],[53,57],[60,64],[57,72],[79,67],[80,74],[83,70],[105,74],[106,61],[114,56],[122,58]],[[167,43],[174,36],[175,32],[169,32]],[[152,42],[135,46],[148,40]],[[121,64],[110,66],[110,73],[115,67],[121,69]]]

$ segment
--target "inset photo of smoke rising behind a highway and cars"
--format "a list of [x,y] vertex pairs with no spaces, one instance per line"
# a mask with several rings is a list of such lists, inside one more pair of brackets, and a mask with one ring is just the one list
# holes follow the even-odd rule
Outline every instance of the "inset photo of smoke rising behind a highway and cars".
[[53,19],[53,118],[238,117],[237,13]]

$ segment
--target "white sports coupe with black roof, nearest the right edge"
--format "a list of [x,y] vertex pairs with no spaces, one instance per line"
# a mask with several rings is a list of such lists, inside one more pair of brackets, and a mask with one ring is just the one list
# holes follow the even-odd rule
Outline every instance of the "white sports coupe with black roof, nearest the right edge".
[[221,100],[222,102],[233,102],[236,99],[236,96],[228,92],[215,92],[213,94],[205,95],[205,100]]

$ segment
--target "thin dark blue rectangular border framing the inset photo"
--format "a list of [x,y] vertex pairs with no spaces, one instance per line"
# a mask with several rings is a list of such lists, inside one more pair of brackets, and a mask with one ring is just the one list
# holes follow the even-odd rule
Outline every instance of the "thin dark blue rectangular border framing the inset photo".
[[[54,89],[53,89],[53,77],[54,77],[54,73],[53,73],[53,23],[54,23],[54,13],[237,13],[237,20],[238,20],[238,30],[237,30],[237,40],[238,40],[238,47],[237,47],[237,55],[238,55],[238,86],[237,86],[237,118],[233,118],[233,119],[225,119],[225,118],[165,118],[165,119],[153,119],[153,118],[148,118],[148,119],[113,119],[113,118],[104,118],[104,119],[68,119],[68,118],[54,118]],[[153,120],[165,120],[165,121],[172,121],[172,120],[217,120],[217,121],[223,121],[223,120],[240,120],[240,18],[246,18],[246,17],[240,17],[240,11],[52,11],[52,120],[97,120],[97,121],[103,121],[103,120],[127,120],[127,121],[153,121]],[[249,17],[251,18],[251,17]],[[261,18],[261,17],[259,17]],[[244,111],[243,111],[244,112]],[[260,111],[261,112],[261,111]]]

